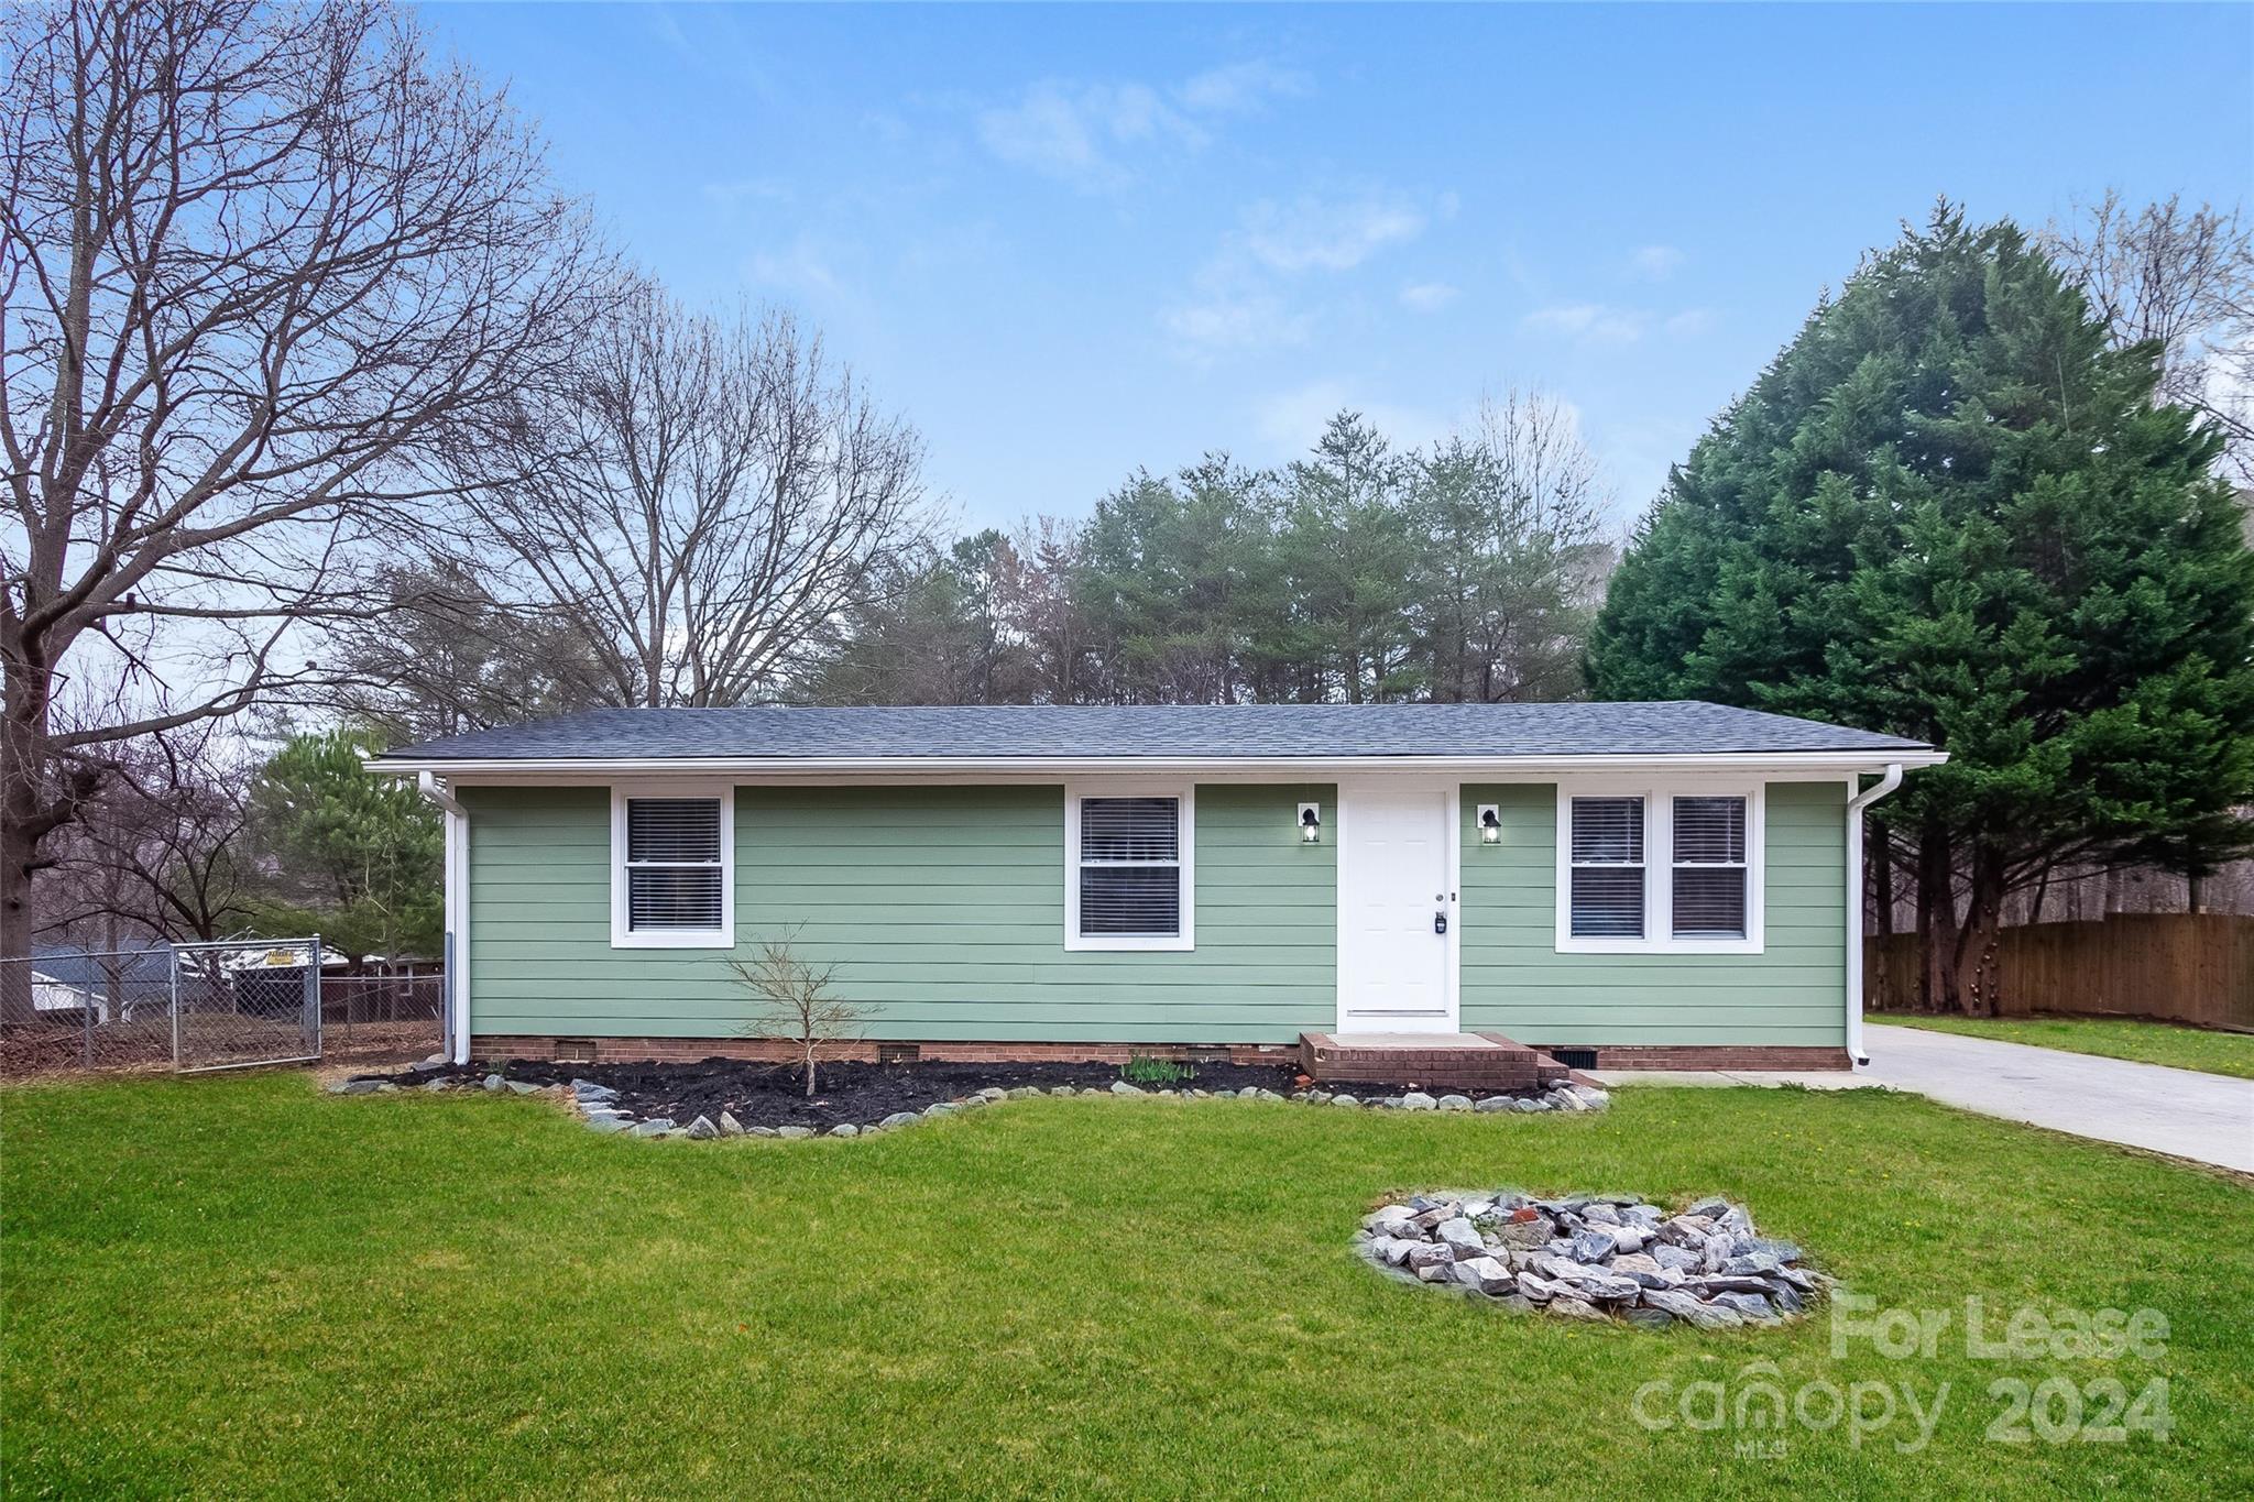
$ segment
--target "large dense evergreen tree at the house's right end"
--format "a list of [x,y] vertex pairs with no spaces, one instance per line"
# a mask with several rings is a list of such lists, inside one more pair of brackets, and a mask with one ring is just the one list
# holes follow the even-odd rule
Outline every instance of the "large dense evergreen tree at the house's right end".
[[2155,383],[2017,227],[1941,205],[1700,439],[1598,617],[1603,698],[1950,752],[1880,806],[1916,851],[1927,1007],[1995,1009],[2002,903],[2042,865],[2245,844],[2254,554],[2220,437]]

